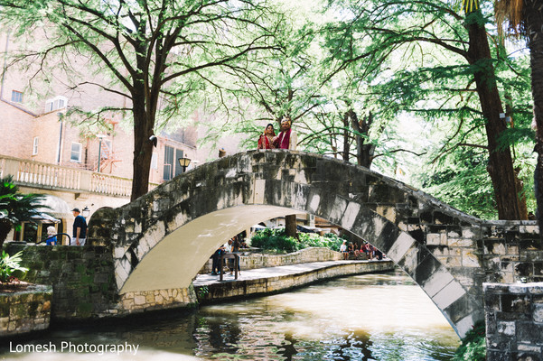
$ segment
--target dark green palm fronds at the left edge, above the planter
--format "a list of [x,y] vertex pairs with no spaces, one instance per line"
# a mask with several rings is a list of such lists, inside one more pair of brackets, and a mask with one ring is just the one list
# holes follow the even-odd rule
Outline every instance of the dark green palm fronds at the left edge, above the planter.
[[0,250],[5,238],[13,227],[21,227],[21,222],[33,221],[33,217],[42,214],[43,194],[21,194],[14,184],[13,177],[0,179]]

